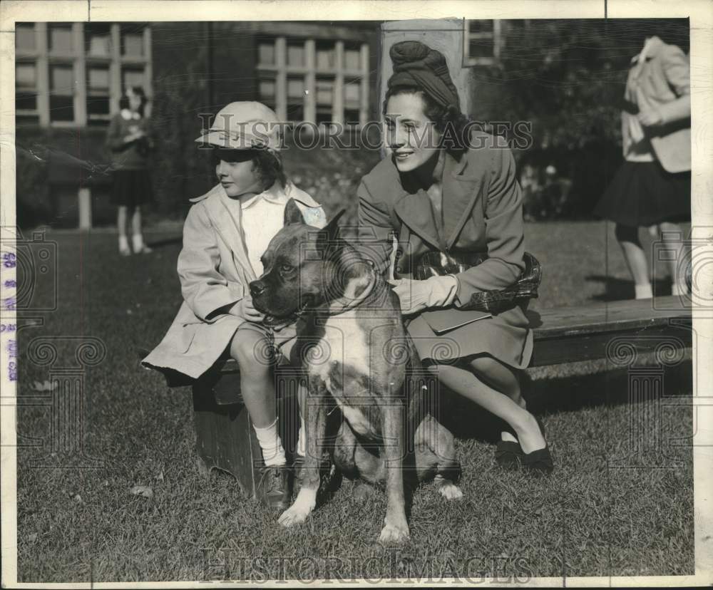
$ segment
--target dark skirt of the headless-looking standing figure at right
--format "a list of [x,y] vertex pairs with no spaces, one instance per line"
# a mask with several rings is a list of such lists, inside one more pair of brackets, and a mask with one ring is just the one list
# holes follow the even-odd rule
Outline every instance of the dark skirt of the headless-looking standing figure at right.
[[640,227],[691,220],[691,172],[666,172],[659,162],[624,162],[594,214]]

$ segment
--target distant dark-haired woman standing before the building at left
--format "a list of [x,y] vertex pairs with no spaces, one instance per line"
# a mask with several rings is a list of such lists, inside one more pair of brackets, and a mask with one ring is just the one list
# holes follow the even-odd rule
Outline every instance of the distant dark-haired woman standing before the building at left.
[[112,118],[106,138],[113,169],[111,202],[118,205],[116,224],[119,254],[122,256],[131,254],[126,234],[128,212],[131,212],[133,252],[151,252],[144,244],[141,232],[141,205],[153,199],[148,160],[153,144],[149,137],[148,121],[143,116],[147,102],[143,88],[128,88],[119,100],[120,112]]

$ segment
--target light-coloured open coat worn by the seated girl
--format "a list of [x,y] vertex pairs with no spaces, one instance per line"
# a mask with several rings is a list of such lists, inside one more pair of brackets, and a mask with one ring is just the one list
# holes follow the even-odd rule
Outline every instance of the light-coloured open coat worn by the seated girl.
[[[320,207],[294,185],[287,185],[285,193],[303,212]],[[248,293],[257,276],[247,257],[240,220],[227,209],[223,195],[225,189],[217,185],[191,200],[194,205],[183,225],[178,257],[183,304],[163,340],[143,359],[145,366],[197,378],[217,361],[246,321],[227,309]]]

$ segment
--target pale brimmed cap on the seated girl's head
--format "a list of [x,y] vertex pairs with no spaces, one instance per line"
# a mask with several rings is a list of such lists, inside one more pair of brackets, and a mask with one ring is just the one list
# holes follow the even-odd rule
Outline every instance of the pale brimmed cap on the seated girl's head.
[[220,109],[210,129],[195,141],[230,150],[279,151],[279,121],[275,111],[262,103],[230,103]]

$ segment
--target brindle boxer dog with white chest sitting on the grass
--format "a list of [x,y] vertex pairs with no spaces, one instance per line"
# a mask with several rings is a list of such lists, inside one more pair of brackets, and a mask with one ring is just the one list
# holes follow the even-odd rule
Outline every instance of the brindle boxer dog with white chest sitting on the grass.
[[302,367],[307,383],[300,400],[307,456],[297,497],[279,522],[304,522],[315,507],[327,411],[336,405],[343,420],[332,437],[334,463],[348,477],[385,483],[379,542],[401,543],[409,537],[404,480],[436,477],[441,494],[456,499],[462,496],[454,483],[460,464],[453,435],[425,408],[426,388],[419,383],[424,372],[404,328],[399,297],[339,237],[342,214],[318,229],[305,224],[289,200],[284,227],[262,256],[265,273],[250,283],[267,324],[279,329],[297,321],[290,361]]

